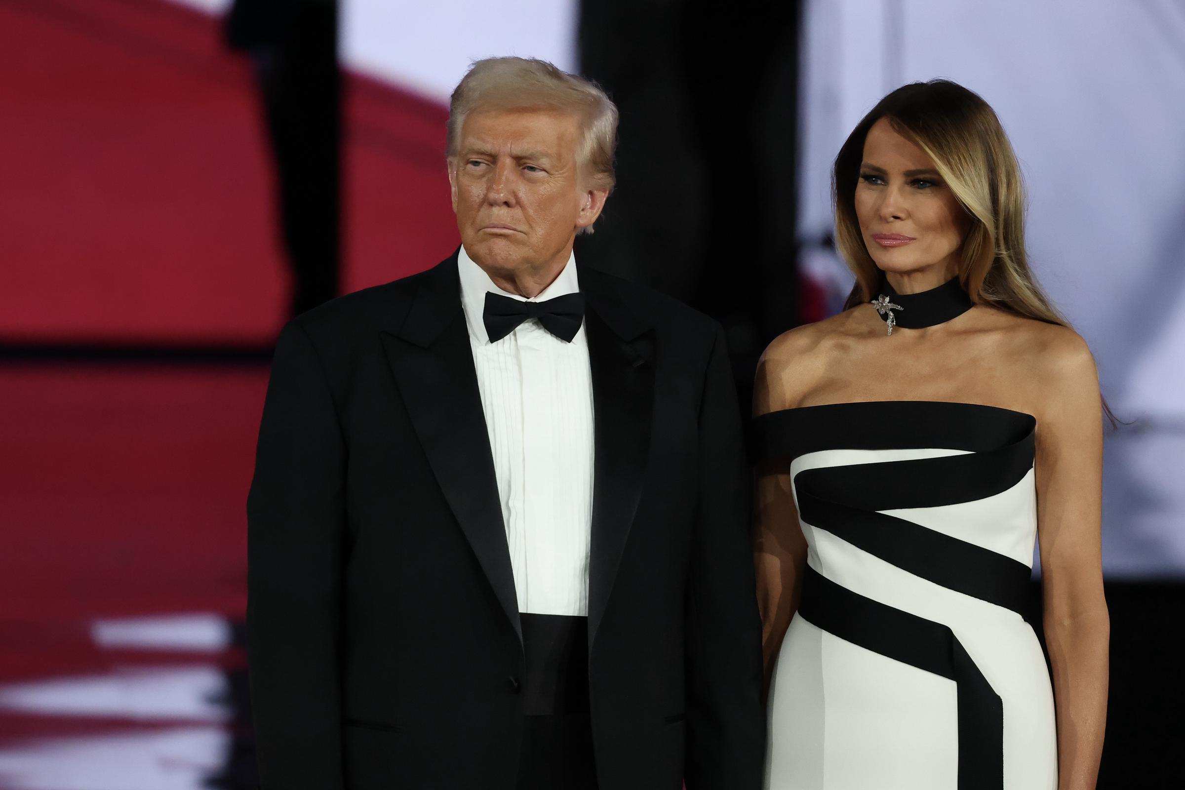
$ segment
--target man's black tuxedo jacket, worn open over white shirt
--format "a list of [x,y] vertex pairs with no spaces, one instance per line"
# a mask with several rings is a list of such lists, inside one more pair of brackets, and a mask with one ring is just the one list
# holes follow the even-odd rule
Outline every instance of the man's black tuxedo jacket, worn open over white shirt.
[[[600,785],[756,789],[761,625],[723,333],[578,271]],[[521,629],[456,256],[283,329],[248,516],[263,790],[511,790]]]

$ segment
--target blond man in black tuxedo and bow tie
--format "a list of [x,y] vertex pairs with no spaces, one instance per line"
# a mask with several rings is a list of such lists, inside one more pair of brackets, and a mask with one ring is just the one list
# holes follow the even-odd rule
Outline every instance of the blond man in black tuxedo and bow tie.
[[572,255],[616,124],[551,64],[476,63],[461,248],[284,327],[248,501],[263,790],[760,785],[723,333]]

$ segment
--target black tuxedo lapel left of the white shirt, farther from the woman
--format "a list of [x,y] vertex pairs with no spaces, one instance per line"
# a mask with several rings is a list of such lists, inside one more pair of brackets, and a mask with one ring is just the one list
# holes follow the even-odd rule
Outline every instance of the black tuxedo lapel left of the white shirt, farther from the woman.
[[523,638],[518,596],[456,257],[422,275],[408,316],[382,340],[396,385],[449,507]]

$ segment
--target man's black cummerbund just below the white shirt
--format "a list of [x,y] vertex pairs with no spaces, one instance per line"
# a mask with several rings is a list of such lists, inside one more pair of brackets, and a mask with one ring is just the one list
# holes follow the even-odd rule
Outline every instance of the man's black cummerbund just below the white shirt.
[[527,715],[583,713],[589,709],[588,617],[519,615],[526,677]]

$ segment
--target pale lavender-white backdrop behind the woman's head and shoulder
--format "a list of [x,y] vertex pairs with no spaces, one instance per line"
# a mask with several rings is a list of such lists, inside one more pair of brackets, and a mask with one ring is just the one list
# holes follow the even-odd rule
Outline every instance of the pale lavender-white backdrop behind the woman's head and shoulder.
[[1185,576],[1185,4],[808,0],[799,223],[807,270],[830,166],[893,88],[947,77],[995,108],[1025,172],[1033,268],[1125,420],[1106,451],[1110,578]]

